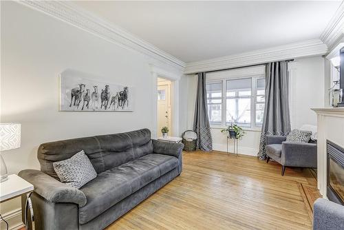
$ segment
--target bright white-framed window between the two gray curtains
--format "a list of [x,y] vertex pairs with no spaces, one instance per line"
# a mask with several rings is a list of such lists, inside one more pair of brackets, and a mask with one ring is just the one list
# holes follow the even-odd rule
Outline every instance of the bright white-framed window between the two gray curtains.
[[[224,93],[223,93],[224,92]],[[206,83],[209,123],[260,127],[265,106],[265,79],[255,76]]]

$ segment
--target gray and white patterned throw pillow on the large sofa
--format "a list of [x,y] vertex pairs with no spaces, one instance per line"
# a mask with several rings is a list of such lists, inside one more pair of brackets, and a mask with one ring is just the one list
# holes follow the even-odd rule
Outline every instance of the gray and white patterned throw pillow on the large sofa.
[[61,182],[79,189],[97,177],[96,170],[83,150],[67,160],[52,163]]

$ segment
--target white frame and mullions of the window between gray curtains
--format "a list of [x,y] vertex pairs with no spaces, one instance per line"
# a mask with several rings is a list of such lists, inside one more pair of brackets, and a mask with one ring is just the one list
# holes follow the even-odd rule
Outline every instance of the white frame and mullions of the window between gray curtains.
[[[254,130],[260,130],[261,129],[261,125],[257,125],[256,124],[256,105],[257,104],[262,104],[257,102],[257,80],[258,79],[265,79],[265,75],[264,74],[254,74],[254,75],[248,75],[248,76],[231,76],[231,77],[222,77],[221,79],[211,79],[211,80],[206,80],[206,85],[207,84],[211,84],[211,83],[220,83],[222,82],[222,121],[221,123],[212,123],[209,121],[209,124],[211,125],[211,128],[223,128],[228,126],[227,125],[227,121],[226,121],[226,111],[227,111],[227,103],[226,103],[226,99],[227,99],[227,95],[226,95],[226,83],[229,80],[238,80],[238,79],[251,79],[251,96],[246,96],[246,98],[250,98],[250,109],[251,109],[251,113],[250,113],[250,118],[251,118],[251,122],[250,122],[250,126],[247,125],[239,125],[240,127],[242,127],[243,129],[254,129]],[[265,94],[264,94],[265,95]],[[244,98],[245,96],[243,96]],[[230,97],[229,97],[230,98]],[[234,97],[233,97],[234,98]],[[206,98],[206,103],[208,106],[208,98]],[[265,104],[265,102],[264,102]]]

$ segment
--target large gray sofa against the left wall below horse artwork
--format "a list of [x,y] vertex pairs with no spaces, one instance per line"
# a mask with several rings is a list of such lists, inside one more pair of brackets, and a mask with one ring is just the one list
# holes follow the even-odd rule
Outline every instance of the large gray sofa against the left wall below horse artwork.
[[[42,144],[37,154],[41,171],[19,172],[34,185],[36,229],[104,229],[180,175],[182,149],[181,143],[151,140],[149,129]],[[58,180],[52,163],[80,150],[97,177],[75,189]]]

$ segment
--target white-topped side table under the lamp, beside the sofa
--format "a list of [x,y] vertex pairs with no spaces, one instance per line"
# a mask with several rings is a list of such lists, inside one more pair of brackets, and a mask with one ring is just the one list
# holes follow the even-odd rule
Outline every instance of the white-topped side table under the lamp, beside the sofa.
[[[16,174],[11,174],[8,176],[8,180],[0,183],[0,203],[6,202],[23,194],[26,194],[26,204],[25,204],[25,229],[28,229],[28,218],[26,213],[30,209],[30,218],[32,222],[32,229],[34,229],[34,212],[32,209],[32,202],[30,195],[34,191],[34,186],[28,181],[19,177]],[[23,209],[23,207],[21,207]]]

